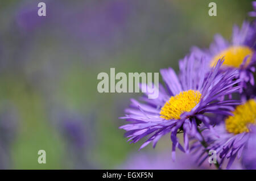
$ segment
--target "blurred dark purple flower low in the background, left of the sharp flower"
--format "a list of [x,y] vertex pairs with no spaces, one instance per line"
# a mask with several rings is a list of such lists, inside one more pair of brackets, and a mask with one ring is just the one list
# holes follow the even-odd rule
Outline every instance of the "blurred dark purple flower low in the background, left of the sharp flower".
[[73,111],[57,111],[53,109],[53,125],[64,138],[67,147],[68,158],[65,165],[72,169],[92,169],[89,162],[88,150],[92,146],[90,136],[93,130],[94,117],[81,116]]

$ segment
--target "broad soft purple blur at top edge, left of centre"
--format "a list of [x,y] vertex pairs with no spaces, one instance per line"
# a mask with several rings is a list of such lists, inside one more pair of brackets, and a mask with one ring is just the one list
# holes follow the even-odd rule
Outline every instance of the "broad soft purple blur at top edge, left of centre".
[[63,27],[67,28],[70,35],[90,44],[90,47],[93,44],[113,44],[126,25],[130,5],[131,2],[127,0],[84,3],[75,14],[63,19]]

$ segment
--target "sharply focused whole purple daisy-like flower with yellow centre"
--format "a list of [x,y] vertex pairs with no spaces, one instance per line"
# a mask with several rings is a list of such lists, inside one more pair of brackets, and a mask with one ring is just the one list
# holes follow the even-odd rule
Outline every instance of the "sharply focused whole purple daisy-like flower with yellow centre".
[[[127,131],[128,141],[133,143],[143,137],[151,135],[140,149],[152,142],[156,142],[167,133],[171,132],[172,157],[175,159],[175,149],[179,148],[186,153],[189,152],[188,136],[195,136],[202,140],[197,126],[200,123],[213,131],[205,112],[230,114],[233,110],[231,104],[235,100],[220,100],[220,97],[236,92],[240,86],[233,87],[240,80],[232,81],[237,76],[237,71],[230,69],[223,74],[218,74],[223,60],[219,60],[210,72],[205,71],[205,61],[201,60],[201,69],[194,71],[195,59],[191,55],[180,62],[180,77],[171,68],[162,69],[163,80],[167,85],[167,91],[159,85],[159,96],[156,99],[142,97],[145,103],[139,103],[131,99],[131,108],[126,111],[126,119],[129,124],[123,125],[121,129]],[[146,85],[141,89],[148,91]],[[147,92],[146,92],[147,94]],[[184,148],[179,143],[177,133],[184,133]]]

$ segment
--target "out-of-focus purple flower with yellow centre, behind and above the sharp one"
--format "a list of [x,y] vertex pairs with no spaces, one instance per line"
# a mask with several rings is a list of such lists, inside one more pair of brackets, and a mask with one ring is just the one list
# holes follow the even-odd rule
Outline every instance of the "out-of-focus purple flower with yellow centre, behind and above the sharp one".
[[221,70],[238,69],[241,85],[246,87],[246,82],[254,85],[253,72],[256,63],[256,25],[254,23],[243,22],[241,29],[238,26],[233,27],[232,41],[229,42],[221,35],[214,36],[214,41],[209,49],[199,49],[193,47],[197,59],[203,56],[208,62],[208,68],[211,68],[218,59],[224,57]]

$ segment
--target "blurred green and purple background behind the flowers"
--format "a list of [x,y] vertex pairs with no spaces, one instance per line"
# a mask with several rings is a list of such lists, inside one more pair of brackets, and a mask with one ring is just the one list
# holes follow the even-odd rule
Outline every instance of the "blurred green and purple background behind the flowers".
[[0,169],[209,169],[184,154],[173,163],[168,136],[138,151],[142,141],[127,143],[118,117],[141,94],[97,91],[110,68],[177,70],[193,45],[229,39],[252,10],[251,1],[216,0],[209,16],[209,2],[0,1]]

